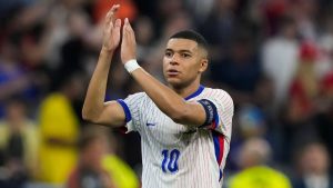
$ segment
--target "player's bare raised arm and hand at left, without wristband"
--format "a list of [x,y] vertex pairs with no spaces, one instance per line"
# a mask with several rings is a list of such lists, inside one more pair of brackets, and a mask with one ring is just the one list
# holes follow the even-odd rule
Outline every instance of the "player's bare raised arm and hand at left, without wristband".
[[114,21],[114,13],[119,7],[119,4],[113,6],[105,17],[103,47],[90,80],[82,108],[82,118],[84,120],[112,127],[122,126],[125,119],[123,109],[118,102],[104,102],[112,56],[120,43],[121,20],[117,19]]

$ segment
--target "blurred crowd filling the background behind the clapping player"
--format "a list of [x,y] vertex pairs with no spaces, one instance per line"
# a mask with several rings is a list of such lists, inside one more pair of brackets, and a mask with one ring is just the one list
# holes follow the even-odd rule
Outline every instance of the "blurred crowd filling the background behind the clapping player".
[[[140,187],[138,133],[81,119],[113,3],[161,81],[172,33],[206,38],[203,85],[235,103],[224,187],[333,188],[333,1],[0,0],[1,188]],[[115,56],[107,100],[137,91]]]

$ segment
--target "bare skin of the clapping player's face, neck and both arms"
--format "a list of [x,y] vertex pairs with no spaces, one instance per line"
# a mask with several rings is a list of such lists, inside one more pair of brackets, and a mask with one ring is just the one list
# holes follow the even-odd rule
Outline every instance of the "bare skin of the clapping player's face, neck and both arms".
[[[104,102],[108,73],[120,37],[122,37],[120,53],[122,63],[137,59],[135,36],[129,20],[124,19],[122,34],[120,33],[121,20],[114,21],[114,13],[119,8],[119,4],[113,6],[105,17],[103,47],[82,109],[83,119],[111,127],[123,126],[125,119],[124,111],[118,102]],[[142,68],[132,71],[131,76],[159,109],[173,121],[198,127],[203,125],[205,111],[200,103],[188,102],[183,98],[199,88],[201,73],[206,67],[206,51],[195,41],[170,39],[163,57],[163,72],[169,87]]]

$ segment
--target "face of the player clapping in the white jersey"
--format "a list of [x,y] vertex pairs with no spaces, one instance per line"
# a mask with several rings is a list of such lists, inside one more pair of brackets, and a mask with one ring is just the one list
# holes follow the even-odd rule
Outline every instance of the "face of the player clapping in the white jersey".
[[163,58],[163,75],[173,87],[192,83],[206,69],[206,55],[189,39],[170,39]]

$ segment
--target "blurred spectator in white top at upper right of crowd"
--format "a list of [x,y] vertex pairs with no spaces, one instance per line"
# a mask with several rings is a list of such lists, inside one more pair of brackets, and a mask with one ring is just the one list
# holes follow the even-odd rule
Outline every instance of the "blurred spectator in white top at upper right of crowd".
[[266,76],[274,85],[274,106],[282,103],[297,69],[299,44],[295,21],[290,17],[281,19],[280,32],[269,38],[262,47],[262,63]]

